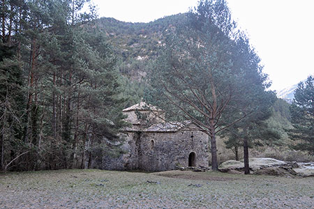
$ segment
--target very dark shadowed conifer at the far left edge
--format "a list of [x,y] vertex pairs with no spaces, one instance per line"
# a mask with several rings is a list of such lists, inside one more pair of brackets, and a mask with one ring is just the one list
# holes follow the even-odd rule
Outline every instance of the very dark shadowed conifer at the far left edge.
[[15,48],[0,42],[0,169],[6,171],[24,155],[22,139],[22,70]]

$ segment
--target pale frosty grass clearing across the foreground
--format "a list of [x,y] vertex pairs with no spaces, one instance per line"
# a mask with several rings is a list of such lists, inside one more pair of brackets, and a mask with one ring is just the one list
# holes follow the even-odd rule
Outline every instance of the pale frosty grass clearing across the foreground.
[[212,171],[0,173],[0,208],[314,208],[314,178]]

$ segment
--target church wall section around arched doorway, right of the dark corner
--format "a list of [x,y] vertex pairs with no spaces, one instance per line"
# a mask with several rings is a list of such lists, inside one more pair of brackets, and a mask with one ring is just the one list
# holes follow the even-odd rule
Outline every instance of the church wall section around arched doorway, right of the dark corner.
[[141,149],[139,167],[145,171],[173,170],[177,164],[188,167],[192,152],[197,167],[208,167],[208,137],[199,131],[144,132]]

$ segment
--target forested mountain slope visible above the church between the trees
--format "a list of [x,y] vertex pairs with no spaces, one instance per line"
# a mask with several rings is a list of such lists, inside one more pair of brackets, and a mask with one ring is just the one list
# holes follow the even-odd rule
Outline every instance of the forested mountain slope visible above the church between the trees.
[[126,107],[140,101],[146,88],[147,73],[154,68],[165,32],[186,21],[186,14],[172,15],[149,23],[130,23],[101,17],[96,27],[102,31],[117,56],[117,67],[126,87]]

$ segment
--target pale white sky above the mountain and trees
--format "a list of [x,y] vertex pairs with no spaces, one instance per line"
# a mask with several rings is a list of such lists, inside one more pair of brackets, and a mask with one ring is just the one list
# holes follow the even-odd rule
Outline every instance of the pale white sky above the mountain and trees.
[[[198,0],[93,0],[99,17],[150,22],[185,13]],[[227,0],[232,17],[246,31],[262,59],[272,90],[314,75],[313,0]]]

